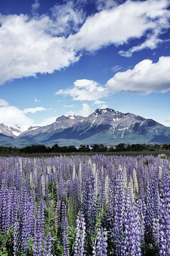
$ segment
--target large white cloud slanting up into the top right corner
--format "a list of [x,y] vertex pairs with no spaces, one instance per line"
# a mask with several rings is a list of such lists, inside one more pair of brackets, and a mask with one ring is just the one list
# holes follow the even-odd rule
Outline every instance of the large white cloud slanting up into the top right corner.
[[168,5],[168,0],[126,1],[88,17],[80,31],[70,35],[67,41],[76,49],[94,51],[110,44],[123,45],[129,39],[141,38],[146,32],[148,38],[152,35],[155,38],[170,26]]

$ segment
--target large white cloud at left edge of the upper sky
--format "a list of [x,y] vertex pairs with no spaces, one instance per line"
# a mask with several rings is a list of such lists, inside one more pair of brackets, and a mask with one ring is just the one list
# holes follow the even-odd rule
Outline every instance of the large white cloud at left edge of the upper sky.
[[51,74],[79,59],[65,37],[49,33],[54,22],[46,15],[0,15],[0,23],[0,84],[37,72]]

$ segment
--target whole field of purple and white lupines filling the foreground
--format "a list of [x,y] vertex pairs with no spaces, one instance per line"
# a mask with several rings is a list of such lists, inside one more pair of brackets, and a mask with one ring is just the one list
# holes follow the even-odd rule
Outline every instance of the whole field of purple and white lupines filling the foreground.
[[0,255],[170,255],[170,158],[0,158]]

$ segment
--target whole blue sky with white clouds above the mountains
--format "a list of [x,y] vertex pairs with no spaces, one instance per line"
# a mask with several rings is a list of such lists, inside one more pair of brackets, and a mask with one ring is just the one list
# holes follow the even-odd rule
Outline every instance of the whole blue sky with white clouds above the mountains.
[[170,0],[1,0],[0,123],[106,107],[170,126]]

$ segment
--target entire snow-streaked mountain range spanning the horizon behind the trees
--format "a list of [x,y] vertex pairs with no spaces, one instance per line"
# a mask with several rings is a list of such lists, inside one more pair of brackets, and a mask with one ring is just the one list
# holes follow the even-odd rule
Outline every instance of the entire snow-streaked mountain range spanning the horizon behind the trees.
[[[18,131],[16,131],[18,130]],[[16,135],[19,134],[17,137]],[[96,109],[88,117],[62,115],[53,124],[30,127],[27,131],[0,124],[0,144],[75,145],[119,143],[170,143],[170,127],[152,119],[121,113],[111,108]]]

